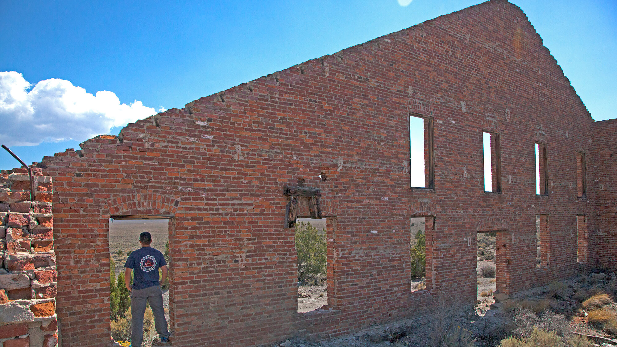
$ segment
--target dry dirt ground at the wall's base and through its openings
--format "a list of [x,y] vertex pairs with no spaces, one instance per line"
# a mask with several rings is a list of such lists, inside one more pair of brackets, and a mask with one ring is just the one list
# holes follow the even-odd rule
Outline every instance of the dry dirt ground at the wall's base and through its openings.
[[[486,265],[480,262],[479,268]],[[568,278],[547,286],[532,288],[512,295],[502,302],[495,303],[492,295],[481,296],[482,291],[494,290],[494,278],[478,277],[478,301],[472,306],[449,309],[455,301],[436,298],[435,306],[419,310],[416,317],[400,320],[391,324],[377,325],[362,332],[344,335],[319,342],[292,338],[281,341],[272,347],[384,347],[384,346],[434,346],[431,339],[439,333],[439,327],[452,326],[455,329],[465,329],[469,339],[476,347],[499,346],[500,341],[514,333],[517,325],[514,321],[516,310],[531,309],[536,317],[545,319],[544,314],[557,314],[563,319],[563,327],[568,336],[586,335],[590,341],[599,346],[617,346],[617,335],[603,328],[602,325],[591,324],[587,317],[592,307],[584,307],[582,302],[597,293],[609,293],[613,298],[617,295],[617,274],[592,272],[587,275]],[[301,286],[300,293],[310,294],[310,298],[299,298],[302,309],[307,312],[311,307],[321,307],[325,304],[326,293],[317,298],[325,286]],[[300,307],[300,305],[299,305]],[[617,304],[611,302],[604,306],[614,312],[617,317]],[[442,329],[444,330],[444,329]],[[444,330],[445,331],[445,330]]]

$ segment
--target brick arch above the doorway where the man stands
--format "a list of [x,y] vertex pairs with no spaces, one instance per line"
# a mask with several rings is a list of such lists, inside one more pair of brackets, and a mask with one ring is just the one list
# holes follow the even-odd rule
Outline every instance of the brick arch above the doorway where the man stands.
[[109,215],[176,214],[180,200],[155,193],[134,193],[107,201]]

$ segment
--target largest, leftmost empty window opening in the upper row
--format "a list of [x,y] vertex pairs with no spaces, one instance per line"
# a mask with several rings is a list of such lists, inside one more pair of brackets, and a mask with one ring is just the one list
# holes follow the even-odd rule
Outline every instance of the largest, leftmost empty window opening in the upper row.
[[435,188],[433,118],[409,115],[410,186]]

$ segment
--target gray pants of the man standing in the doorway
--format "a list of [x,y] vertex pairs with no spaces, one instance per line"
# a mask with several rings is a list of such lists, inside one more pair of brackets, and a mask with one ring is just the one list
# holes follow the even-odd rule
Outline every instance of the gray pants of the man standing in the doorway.
[[131,346],[133,347],[141,347],[141,343],[144,341],[146,302],[150,304],[154,314],[154,328],[159,333],[159,337],[171,335],[167,330],[167,320],[165,320],[163,308],[163,292],[160,290],[160,286],[134,289],[131,291]]

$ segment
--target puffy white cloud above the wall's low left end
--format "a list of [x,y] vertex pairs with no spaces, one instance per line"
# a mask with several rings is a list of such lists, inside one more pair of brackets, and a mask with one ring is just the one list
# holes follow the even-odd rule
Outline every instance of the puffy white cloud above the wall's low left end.
[[111,91],[97,91],[95,96],[58,78],[41,81],[28,90],[31,86],[21,73],[0,72],[0,143],[34,146],[83,141],[157,113],[141,101],[120,104]]

